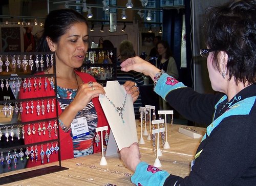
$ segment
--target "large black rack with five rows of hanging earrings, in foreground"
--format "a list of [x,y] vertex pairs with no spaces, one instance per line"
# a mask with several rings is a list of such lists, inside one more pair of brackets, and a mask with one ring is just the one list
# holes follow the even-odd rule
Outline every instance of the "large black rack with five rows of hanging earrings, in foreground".
[[[51,66],[53,74],[42,73]],[[60,158],[55,53],[0,53],[0,81],[0,173],[14,171],[1,177],[1,184],[66,170]],[[20,98],[22,91],[26,96]],[[44,96],[31,96],[39,91]],[[49,138],[40,141],[40,135]],[[24,143],[26,137],[39,141]],[[15,174],[29,161],[47,165],[51,155],[58,156],[59,166]]]

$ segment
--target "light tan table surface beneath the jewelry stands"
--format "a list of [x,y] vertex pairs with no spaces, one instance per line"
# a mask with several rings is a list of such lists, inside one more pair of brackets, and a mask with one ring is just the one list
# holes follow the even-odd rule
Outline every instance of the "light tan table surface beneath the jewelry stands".
[[[179,127],[184,125],[170,125],[167,124],[167,142],[170,149],[162,149],[162,156],[159,156],[162,167],[160,169],[166,170],[171,174],[185,177],[190,171],[190,162],[194,158],[196,149],[201,141],[201,138],[191,138],[178,132]],[[149,126],[146,126],[149,132]],[[197,130],[202,135],[205,133],[205,128],[191,127]],[[141,127],[137,121],[138,140],[141,137]],[[143,126],[144,131],[144,126]],[[141,152],[141,160],[154,165],[155,154],[153,153],[152,141],[147,140],[147,136],[143,136],[145,144],[139,145]],[[133,174],[127,169],[119,158],[119,155],[105,157],[108,165],[100,166],[101,153],[92,154],[89,156],[73,158],[61,161],[61,167],[68,168],[61,171],[47,173],[47,168],[50,166],[58,167],[58,162],[48,163],[34,168],[23,170],[16,170],[8,173],[0,174],[0,184],[3,184],[3,179],[6,177],[15,178],[20,173],[33,173],[34,170],[41,172],[42,175],[32,177],[15,182],[7,183],[5,185],[104,185],[106,183],[116,185],[133,185],[131,183],[131,175]],[[51,167],[50,167],[51,168]],[[38,170],[39,169],[39,170]],[[29,177],[29,176],[28,176]],[[8,178],[8,179],[12,179]]]

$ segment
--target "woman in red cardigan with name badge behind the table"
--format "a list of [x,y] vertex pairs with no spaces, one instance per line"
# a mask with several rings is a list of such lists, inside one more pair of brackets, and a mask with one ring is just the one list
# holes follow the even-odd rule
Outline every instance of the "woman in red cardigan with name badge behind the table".
[[[101,143],[95,142],[95,128],[108,125],[98,100],[99,94],[105,94],[103,87],[97,83],[91,75],[76,70],[83,64],[84,57],[88,50],[88,42],[88,23],[84,16],[72,9],[60,9],[50,12],[45,20],[44,33],[38,44],[37,51],[55,52],[57,84],[54,85],[54,88],[50,86],[55,82],[51,76],[48,77],[46,75],[54,74],[54,67],[51,65],[48,67],[47,60],[44,59],[42,72],[36,73],[36,75],[42,75],[41,83],[44,83],[44,85],[47,83],[47,89],[39,89],[37,86],[35,91],[20,90],[19,94],[20,99],[34,98],[31,102],[23,102],[24,108],[26,108],[28,104],[33,104],[34,107],[37,105],[40,106],[43,104],[42,101],[44,101],[44,105],[47,108],[46,105],[56,103],[55,99],[41,99],[54,96],[54,89],[56,88],[57,105],[54,105],[54,108],[58,109],[57,113],[59,115],[56,115],[56,112],[52,111],[45,111],[45,113],[42,114],[40,110],[38,114],[38,111],[35,111],[34,108],[34,112],[22,114],[21,119],[22,122],[33,121],[33,126],[37,126],[39,129],[43,128],[44,125],[46,128],[48,128],[49,124],[54,126],[57,120],[50,121],[49,124],[48,122],[34,123],[34,121],[58,117],[61,160],[100,152]],[[34,69],[33,72],[36,72],[36,69]],[[31,78],[30,80],[32,85],[34,85],[36,81],[38,83],[39,78]],[[127,90],[127,94],[132,95],[133,101],[136,101],[139,92],[137,87],[134,86],[134,82],[127,81],[124,87]],[[41,99],[36,100],[35,98]],[[75,121],[77,121],[78,124],[87,121],[87,125],[83,126],[82,129],[83,131],[89,132],[86,133],[86,135],[77,136],[77,138],[75,138],[73,136]],[[25,144],[42,143],[42,145],[37,146],[39,152],[41,149],[46,152],[46,150],[52,146],[55,147],[55,143],[44,144],[45,141],[57,138],[53,132],[51,137],[47,134],[30,135],[33,126],[32,124],[24,125],[24,130],[26,131],[24,138]],[[105,135],[105,131],[103,133],[103,135]],[[34,151],[35,148],[34,146]],[[37,161],[33,159],[29,160],[27,167],[41,165],[44,157],[46,156],[38,155]],[[52,153],[49,157],[49,161],[53,162],[57,160],[58,153]]]

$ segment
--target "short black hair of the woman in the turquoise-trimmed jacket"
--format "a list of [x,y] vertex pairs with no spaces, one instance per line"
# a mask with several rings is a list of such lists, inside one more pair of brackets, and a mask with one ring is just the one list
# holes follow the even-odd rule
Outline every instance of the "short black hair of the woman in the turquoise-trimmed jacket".
[[206,9],[205,38],[216,50],[213,65],[220,71],[218,54],[228,55],[227,71],[236,83],[255,83],[256,77],[256,2],[232,1],[225,6]]

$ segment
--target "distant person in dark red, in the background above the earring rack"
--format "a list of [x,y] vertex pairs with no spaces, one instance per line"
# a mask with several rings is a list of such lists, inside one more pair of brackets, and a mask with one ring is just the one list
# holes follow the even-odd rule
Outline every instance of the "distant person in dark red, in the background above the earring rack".
[[25,52],[35,52],[36,40],[32,34],[33,27],[24,27],[26,32],[24,34],[24,51]]

